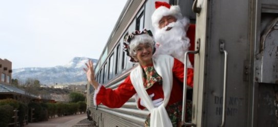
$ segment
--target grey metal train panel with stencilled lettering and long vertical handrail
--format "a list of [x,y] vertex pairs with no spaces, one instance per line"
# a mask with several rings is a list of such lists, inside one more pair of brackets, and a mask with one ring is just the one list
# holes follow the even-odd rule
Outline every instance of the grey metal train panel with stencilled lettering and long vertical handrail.
[[193,118],[196,126],[249,126],[252,61],[249,1],[205,1],[196,12]]

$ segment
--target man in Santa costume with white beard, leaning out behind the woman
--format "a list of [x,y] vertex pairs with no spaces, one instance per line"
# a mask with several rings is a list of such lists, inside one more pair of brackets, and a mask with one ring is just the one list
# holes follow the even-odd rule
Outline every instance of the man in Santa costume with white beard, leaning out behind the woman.
[[[190,30],[193,30],[191,32],[195,33],[195,26],[190,25],[189,19],[182,15],[179,6],[170,6],[166,2],[155,2],[155,8],[151,17],[156,41],[154,56],[166,54],[184,63],[184,54],[190,47],[187,31],[190,27]],[[191,41],[194,43],[194,35]],[[189,59],[193,62],[192,56]],[[193,68],[189,59],[187,67]]]

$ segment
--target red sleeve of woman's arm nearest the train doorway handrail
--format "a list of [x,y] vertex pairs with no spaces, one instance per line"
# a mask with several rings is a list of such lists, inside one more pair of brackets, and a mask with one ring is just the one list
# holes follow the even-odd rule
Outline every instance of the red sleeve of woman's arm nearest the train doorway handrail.
[[[173,75],[180,81],[184,82],[184,64],[174,58]],[[187,85],[193,87],[193,69],[187,68]]]

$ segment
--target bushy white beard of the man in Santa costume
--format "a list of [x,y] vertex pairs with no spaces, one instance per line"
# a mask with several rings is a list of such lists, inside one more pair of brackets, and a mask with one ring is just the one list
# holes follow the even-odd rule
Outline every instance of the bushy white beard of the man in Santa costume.
[[[162,29],[155,29],[154,39],[159,43],[154,56],[170,55],[184,63],[184,53],[188,51],[190,40],[186,36],[188,21],[186,19],[177,20]],[[170,30],[166,30],[172,27]],[[187,67],[193,68],[189,59]]]

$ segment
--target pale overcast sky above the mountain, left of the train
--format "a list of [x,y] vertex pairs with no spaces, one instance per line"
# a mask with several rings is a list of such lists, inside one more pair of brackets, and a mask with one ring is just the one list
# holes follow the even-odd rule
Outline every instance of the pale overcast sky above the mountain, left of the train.
[[12,68],[99,59],[126,0],[0,0],[0,59]]

